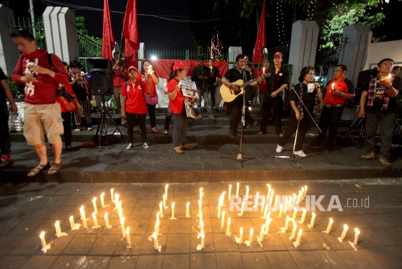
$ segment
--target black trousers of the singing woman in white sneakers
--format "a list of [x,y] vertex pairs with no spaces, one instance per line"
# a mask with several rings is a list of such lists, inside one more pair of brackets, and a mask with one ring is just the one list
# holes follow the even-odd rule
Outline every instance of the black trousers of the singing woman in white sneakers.
[[[290,112],[289,115],[289,126],[288,129],[286,130],[285,134],[283,134],[282,138],[280,139],[279,146],[283,147],[285,144],[288,142],[292,134],[296,132],[297,130],[297,121],[296,120],[296,113],[294,113],[294,110]],[[304,139],[306,138],[307,131],[309,131],[310,126],[311,126],[311,118],[309,114],[305,111],[304,112],[304,117],[302,120],[300,120],[300,125],[299,125],[299,131],[297,133],[297,139],[296,139],[296,146],[294,148],[294,151],[299,151],[303,147]]]

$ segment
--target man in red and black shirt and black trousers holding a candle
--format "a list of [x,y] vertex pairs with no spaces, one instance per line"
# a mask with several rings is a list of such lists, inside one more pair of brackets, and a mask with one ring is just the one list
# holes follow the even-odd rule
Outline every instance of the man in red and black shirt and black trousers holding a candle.
[[340,116],[342,116],[343,104],[345,104],[346,100],[353,100],[355,98],[355,88],[352,81],[345,77],[346,71],[347,67],[343,64],[335,67],[334,78],[327,84],[324,107],[321,112],[320,122],[318,123],[323,132],[315,138],[311,145],[312,147],[321,148],[326,130],[329,127],[328,150],[331,151],[335,148],[338,123]]

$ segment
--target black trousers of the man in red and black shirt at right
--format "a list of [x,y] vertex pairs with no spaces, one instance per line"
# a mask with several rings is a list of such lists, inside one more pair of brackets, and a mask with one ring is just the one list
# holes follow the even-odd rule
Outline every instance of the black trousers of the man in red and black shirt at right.
[[343,112],[343,106],[323,107],[320,122],[318,123],[318,126],[323,132],[318,134],[317,138],[315,138],[314,141],[315,145],[321,145],[321,143],[323,143],[326,131],[329,128],[328,146],[329,147],[335,146],[338,135],[338,124],[340,116],[342,116],[342,112]]

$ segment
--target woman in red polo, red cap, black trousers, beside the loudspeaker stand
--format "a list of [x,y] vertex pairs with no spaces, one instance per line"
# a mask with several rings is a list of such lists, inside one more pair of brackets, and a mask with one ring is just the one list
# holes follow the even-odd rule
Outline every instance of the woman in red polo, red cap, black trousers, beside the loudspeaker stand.
[[139,129],[141,130],[142,146],[149,149],[147,144],[147,129],[145,127],[145,116],[147,115],[147,106],[145,104],[145,92],[151,90],[151,84],[137,79],[138,70],[134,66],[128,68],[129,80],[123,84],[121,95],[122,99],[122,118],[127,119],[128,146],[126,149],[134,148],[133,129],[136,116],[139,120]]

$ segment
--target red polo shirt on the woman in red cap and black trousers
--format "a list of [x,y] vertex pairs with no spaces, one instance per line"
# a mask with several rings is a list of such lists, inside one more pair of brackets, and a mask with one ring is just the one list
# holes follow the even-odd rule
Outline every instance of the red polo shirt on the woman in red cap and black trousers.
[[131,81],[127,82],[127,88],[125,83],[123,84],[121,95],[126,96],[125,100],[125,111],[133,114],[146,114],[147,113],[147,105],[145,104],[145,95],[144,90],[142,89],[142,85],[146,85],[146,83],[139,84],[137,80],[135,85],[131,83]]

